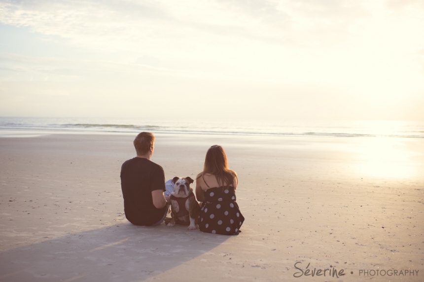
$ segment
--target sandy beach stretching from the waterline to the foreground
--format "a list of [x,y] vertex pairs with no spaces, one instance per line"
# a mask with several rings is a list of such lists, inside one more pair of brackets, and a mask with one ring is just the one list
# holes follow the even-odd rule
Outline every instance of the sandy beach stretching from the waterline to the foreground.
[[[133,136],[0,138],[0,281],[424,281],[424,141],[156,138],[167,179],[224,146],[240,235],[129,223],[119,172]],[[345,275],[295,278],[296,262]]]

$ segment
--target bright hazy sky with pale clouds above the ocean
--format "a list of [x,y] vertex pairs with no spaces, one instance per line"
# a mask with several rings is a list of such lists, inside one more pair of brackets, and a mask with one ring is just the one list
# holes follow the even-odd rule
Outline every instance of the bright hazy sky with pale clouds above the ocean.
[[424,121],[423,0],[0,0],[0,116]]

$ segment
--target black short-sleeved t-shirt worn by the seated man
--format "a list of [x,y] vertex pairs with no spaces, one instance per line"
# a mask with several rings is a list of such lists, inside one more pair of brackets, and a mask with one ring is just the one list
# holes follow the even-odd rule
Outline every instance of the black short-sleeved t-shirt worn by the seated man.
[[121,167],[121,188],[125,216],[131,223],[152,225],[165,214],[167,206],[156,209],[152,200],[152,191],[166,191],[160,165],[138,157],[126,161]]

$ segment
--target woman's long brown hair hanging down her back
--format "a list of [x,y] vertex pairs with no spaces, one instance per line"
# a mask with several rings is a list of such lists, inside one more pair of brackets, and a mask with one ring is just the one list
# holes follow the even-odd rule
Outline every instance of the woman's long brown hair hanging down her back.
[[203,173],[211,174],[216,177],[218,185],[227,183],[227,185],[234,185],[234,177],[237,179],[237,174],[228,169],[227,155],[224,149],[219,145],[213,145],[209,148],[205,157],[205,165],[203,166]]

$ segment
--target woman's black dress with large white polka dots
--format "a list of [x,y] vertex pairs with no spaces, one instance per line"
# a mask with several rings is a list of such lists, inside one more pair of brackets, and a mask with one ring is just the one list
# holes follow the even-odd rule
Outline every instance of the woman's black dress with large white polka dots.
[[236,203],[233,186],[213,187],[203,191],[205,201],[199,213],[199,229],[203,232],[236,235],[245,218]]

